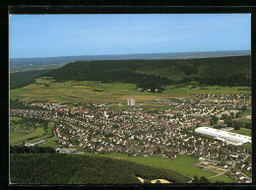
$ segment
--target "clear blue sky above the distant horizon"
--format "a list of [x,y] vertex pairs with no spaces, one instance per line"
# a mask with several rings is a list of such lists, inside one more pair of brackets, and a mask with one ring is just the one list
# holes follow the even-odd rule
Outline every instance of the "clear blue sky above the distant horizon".
[[250,14],[10,16],[10,58],[250,49]]

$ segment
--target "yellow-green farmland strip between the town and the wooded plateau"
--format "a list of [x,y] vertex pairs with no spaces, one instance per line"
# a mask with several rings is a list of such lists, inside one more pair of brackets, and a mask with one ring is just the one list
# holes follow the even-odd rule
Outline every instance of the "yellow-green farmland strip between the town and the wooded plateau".
[[122,102],[126,104],[128,97],[136,102],[150,102],[155,98],[186,98],[188,93],[215,93],[215,94],[250,94],[250,88],[245,87],[196,87],[190,86],[173,88],[166,86],[162,93],[141,93],[133,84],[100,82],[54,82],[50,78],[35,79],[35,83],[20,89],[10,91],[11,99],[19,98],[23,101],[40,100],[52,102]]

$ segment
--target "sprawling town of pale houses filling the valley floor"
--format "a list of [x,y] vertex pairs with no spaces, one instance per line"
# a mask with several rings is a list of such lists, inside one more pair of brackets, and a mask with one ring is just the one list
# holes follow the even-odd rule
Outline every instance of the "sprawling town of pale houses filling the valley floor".
[[[150,103],[168,108],[144,110],[147,103],[131,97],[127,103],[24,102],[21,108],[11,108],[10,115],[53,122],[57,145],[52,147],[59,153],[117,152],[170,159],[186,155],[198,158],[198,167],[228,173],[236,182],[251,182],[251,137],[236,133],[251,130],[250,124],[238,122],[251,119],[251,114],[243,114],[251,109],[250,95],[189,94],[189,98],[158,98]],[[209,135],[202,129],[246,141]],[[45,141],[25,142],[25,146]]]

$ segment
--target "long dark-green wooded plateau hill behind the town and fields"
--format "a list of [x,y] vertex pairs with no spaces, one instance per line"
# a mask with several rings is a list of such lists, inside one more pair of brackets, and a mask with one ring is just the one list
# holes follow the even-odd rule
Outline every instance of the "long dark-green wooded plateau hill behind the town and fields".
[[250,56],[186,60],[76,61],[45,77],[56,81],[132,83],[142,88],[197,81],[204,85],[250,86]]

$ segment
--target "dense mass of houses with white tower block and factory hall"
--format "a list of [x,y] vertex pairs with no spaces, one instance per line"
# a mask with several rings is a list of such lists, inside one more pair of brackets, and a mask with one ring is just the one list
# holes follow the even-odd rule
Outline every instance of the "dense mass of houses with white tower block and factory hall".
[[[61,145],[57,148],[59,153],[76,153],[72,146],[75,142],[93,153],[119,152],[129,156],[159,155],[164,158],[188,155],[221,162],[235,159],[246,168],[251,166],[251,152],[242,146],[250,143],[251,137],[210,126],[212,115],[219,117],[243,105],[249,107],[250,95],[191,94],[189,99],[156,101],[172,108],[159,113],[145,112],[140,106],[133,106],[135,99],[128,98],[127,104],[133,108],[127,110],[111,110],[112,105],[120,106],[119,102],[73,107],[41,103],[32,106],[41,106],[45,110],[11,109],[10,113],[58,123],[54,135]],[[92,106],[94,109],[90,108]]]

